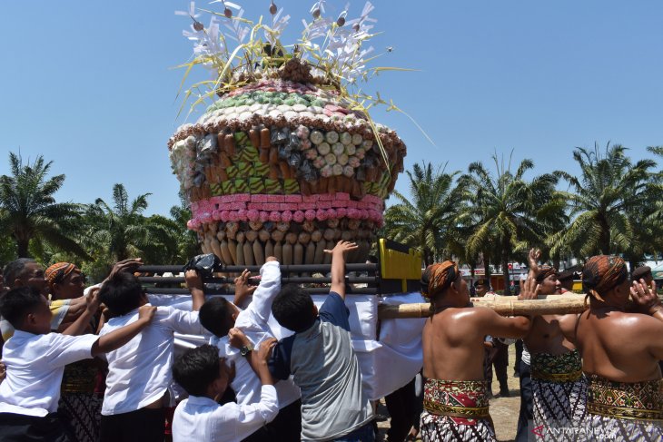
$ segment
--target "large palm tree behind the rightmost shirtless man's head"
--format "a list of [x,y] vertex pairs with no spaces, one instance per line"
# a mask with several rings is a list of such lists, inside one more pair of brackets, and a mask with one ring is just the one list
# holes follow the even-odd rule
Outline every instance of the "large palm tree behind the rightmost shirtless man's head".
[[[569,182],[571,192],[560,192],[569,204],[569,227],[549,238],[552,250],[574,245],[578,256],[610,254],[629,250],[636,224],[628,211],[648,210],[652,200],[656,166],[653,160],[633,164],[619,144],[606,146],[605,152],[576,148],[573,159],[580,175],[555,172]],[[642,219],[638,216],[638,219]]]

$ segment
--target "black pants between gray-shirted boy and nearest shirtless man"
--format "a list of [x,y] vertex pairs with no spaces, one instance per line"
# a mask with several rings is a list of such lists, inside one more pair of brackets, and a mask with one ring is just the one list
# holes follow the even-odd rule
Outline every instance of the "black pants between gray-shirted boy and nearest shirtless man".
[[421,415],[418,398],[415,394],[413,378],[405,386],[384,397],[387,411],[391,417],[391,426],[387,430],[389,442],[402,442],[416,425]]

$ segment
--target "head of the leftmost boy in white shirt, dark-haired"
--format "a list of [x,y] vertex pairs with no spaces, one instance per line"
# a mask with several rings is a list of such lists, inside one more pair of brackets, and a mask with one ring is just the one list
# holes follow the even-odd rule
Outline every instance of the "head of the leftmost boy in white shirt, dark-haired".
[[0,297],[0,315],[17,330],[35,334],[51,331],[53,313],[48,300],[35,287],[19,287],[6,292]]

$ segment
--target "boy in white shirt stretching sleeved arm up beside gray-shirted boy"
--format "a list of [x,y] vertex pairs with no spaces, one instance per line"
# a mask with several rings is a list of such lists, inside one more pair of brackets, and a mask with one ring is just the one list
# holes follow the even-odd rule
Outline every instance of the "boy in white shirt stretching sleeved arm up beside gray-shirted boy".
[[[242,358],[242,349],[235,349],[230,344],[228,332],[233,327],[241,329],[249,342],[244,352],[249,348],[262,346],[265,339],[282,337],[282,328],[272,321],[272,301],[281,290],[281,268],[274,257],[267,260],[260,270],[260,285],[253,291],[252,301],[246,309],[240,310],[232,303],[215,298],[203,304],[200,311],[201,323],[205,329],[210,330],[214,336],[210,343],[219,349],[219,357],[226,360],[226,364],[233,363],[235,377],[231,380],[231,388],[235,392],[237,403],[250,405],[261,400],[261,382],[249,366],[247,360]],[[248,286],[248,270],[235,280],[235,299],[242,298],[246,292],[252,291]],[[266,427],[255,428],[255,433],[245,442],[295,442],[300,440],[302,430],[302,403],[299,400],[300,389],[294,385],[292,378],[281,380],[275,385],[279,415]]]

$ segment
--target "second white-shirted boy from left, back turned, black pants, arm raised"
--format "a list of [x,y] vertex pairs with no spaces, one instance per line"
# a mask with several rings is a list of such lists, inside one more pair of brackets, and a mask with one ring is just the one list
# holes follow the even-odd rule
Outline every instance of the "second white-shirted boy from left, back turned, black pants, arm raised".
[[[195,270],[187,270],[185,278],[192,293],[193,311],[159,307],[150,327],[124,348],[108,353],[102,441],[163,441],[166,392],[172,380],[173,333],[203,333],[197,311],[204,302],[203,281]],[[113,316],[100,336],[133,323],[138,309],[147,304],[141,283],[125,272],[104,281],[100,298]]]

